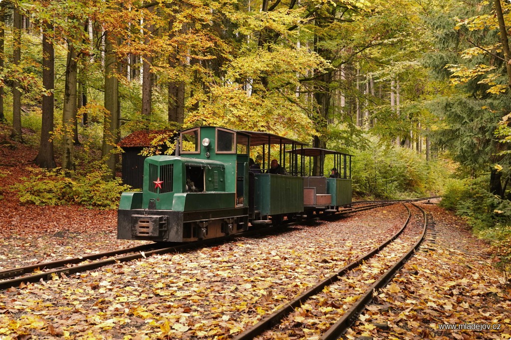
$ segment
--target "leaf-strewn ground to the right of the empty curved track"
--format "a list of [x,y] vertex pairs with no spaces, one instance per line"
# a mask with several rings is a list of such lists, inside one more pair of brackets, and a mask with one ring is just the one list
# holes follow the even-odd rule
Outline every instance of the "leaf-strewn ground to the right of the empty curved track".
[[[426,242],[375,296],[375,304],[367,307],[345,338],[508,340],[511,289],[501,284],[502,274],[492,268],[487,246],[450,213],[436,206],[426,208],[436,221],[436,239]],[[382,323],[388,330],[375,325]],[[444,324],[466,329],[440,329]]]

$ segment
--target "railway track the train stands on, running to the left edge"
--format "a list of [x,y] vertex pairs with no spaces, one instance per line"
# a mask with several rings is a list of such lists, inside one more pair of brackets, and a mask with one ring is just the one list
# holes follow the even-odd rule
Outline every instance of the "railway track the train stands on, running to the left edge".
[[[427,200],[431,198],[418,199],[414,201]],[[384,201],[385,202],[385,201]],[[403,202],[403,201],[402,201]],[[405,201],[408,202],[408,201]],[[369,204],[357,208],[349,208],[339,212],[338,216],[346,213],[353,213],[364,211],[381,206],[397,204],[396,201],[388,201],[383,204]],[[332,215],[331,215],[332,216]],[[336,214],[337,216],[337,214]],[[321,215],[314,215],[312,218],[317,219]],[[300,222],[292,222],[284,225],[283,227],[299,224]],[[253,235],[260,235],[263,233],[273,233],[277,231],[275,227],[261,227],[255,230],[250,230],[244,233],[239,233],[224,238],[209,239],[193,244],[177,244],[168,246],[167,244],[148,244],[137,247],[131,247],[116,251],[79,256],[71,259],[64,259],[52,262],[37,263],[35,265],[28,265],[24,267],[0,271],[0,289],[7,289],[10,287],[17,287],[21,283],[38,282],[40,280],[50,280],[54,275],[72,275],[81,272],[86,272],[94,269],[101,268],[102,266],[109,265],[117,262],[126,262],[132,260],[139,260],[156,254],[166,254],[172,252],[182,252],[190,249],[206,247],[210,245],[221,244],[228,241],[233,237],[250,237]]]

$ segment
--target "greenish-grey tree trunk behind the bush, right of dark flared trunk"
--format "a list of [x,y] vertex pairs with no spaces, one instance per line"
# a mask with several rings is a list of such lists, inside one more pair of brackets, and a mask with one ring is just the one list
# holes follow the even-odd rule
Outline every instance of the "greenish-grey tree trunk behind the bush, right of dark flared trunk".
[[76,120],[76,88],[77,88],[77,53],[72,43],[67,43],[67,60],[65,68],[64,108],[62,113],[62,127],[64,129],[62,154],[62,168],[73,170],[74,164],[74,136],[73,130]]

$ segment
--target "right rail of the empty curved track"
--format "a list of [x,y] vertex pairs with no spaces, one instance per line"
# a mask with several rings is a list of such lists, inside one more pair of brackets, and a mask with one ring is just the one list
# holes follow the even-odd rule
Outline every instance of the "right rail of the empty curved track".
[[367,304],[373,301],[373,293],[375,290],[383,288],[388,281],[396,274],[405,262],[415,253],[415,251],[421,246],[424,241],[424,235],[426,234],[426,229],[428,227],[428,215],[426,211],[421,207],[412,203],[413,206],[420,209],[424,216],[424,227],[419,240],[415,242],[413,247],[403,255],[394,265],[392,265],[386,272],[383,274],[373,285],[371,285],[366,292],[357,300],[357,302],[346,311],[346,313],[339,319],[335,324],[333,324],[329,330],[321,336],[323,340],[333,340],[339,338],[355,321],[358,314],[362,312]]

